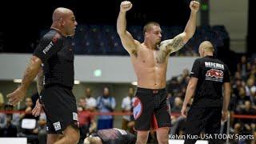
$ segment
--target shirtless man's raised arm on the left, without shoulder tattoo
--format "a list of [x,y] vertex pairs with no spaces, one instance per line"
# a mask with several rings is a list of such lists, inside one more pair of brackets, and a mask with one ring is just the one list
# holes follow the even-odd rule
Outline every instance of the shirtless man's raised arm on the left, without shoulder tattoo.
[[122,46],[133,54],[137,51],[139,42],[134,40],[132,35],[126,30],[126,11],[130,10],[133,5],[129,1],[121,2],[120,12],[118,15],[117,31],[121,38]]

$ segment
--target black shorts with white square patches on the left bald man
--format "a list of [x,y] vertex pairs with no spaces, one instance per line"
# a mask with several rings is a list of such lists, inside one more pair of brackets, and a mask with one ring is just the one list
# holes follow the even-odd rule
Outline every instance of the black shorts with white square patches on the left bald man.
[[47,86],[42,90],[40,100],[46,113],[48,134],[62,134],[67,126],[78,129],[76,100],[71,88]]

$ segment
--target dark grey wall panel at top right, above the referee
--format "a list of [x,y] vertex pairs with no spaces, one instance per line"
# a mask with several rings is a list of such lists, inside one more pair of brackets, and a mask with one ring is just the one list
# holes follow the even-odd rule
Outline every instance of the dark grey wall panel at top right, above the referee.
[[210,1],[210,25],[224,25],[230,34],[230,48],[246,50],[248,0]]

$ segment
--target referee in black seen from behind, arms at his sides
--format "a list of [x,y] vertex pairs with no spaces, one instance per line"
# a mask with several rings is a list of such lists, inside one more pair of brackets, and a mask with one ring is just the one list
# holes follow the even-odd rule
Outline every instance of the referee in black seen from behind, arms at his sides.
[[[186,118],[185,143],[195,143],[194,135],[205,130],[212,136],[210,143],[222,143],[215,139],[219,134],[221,121],[225,122],[230,103],[230,74],[227,66],[213,57],[214,46],[204,41],[199,46],[201,58],[195,60],[190,73],[190,82],[182,106],[182,115]],[[224,98],[222,96],[224,88]],[[187,103],[194,95],[192,106],[186,114]]]

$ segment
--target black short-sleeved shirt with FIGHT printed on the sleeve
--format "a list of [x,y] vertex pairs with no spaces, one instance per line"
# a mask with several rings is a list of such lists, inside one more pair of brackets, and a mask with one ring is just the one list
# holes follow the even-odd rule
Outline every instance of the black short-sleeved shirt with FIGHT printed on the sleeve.
[[64,37],[52,29],[43,36],[34,50],[34,56],[42,60],[44,86],[74,85],[74,50],[71,41],[72,38]]

